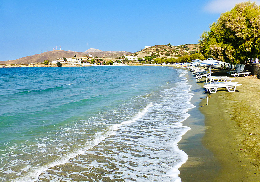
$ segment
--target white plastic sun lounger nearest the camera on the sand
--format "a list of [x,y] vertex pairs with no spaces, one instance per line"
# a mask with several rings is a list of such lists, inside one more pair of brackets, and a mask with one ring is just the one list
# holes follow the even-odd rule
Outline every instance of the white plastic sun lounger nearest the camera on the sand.
[[217,92],[218,88],[226,88],[228,92],[235,92],[237,86],[242,85],[241,83],[238,82],[223,82],[223,83],[211,83],[211,84],[206,84],[203,87],[206,89],[206,92],[210,92],[211,94],[214,94]]

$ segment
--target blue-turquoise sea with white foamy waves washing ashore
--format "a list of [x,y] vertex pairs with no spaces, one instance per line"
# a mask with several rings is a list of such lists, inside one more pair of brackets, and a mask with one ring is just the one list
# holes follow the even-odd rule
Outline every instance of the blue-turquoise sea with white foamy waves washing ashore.
[[187,71],[0,68],[0,181],[179,182]]

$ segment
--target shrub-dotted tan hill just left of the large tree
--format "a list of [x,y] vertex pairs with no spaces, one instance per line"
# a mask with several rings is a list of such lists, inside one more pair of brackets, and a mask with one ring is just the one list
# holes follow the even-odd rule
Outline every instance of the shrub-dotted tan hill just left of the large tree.
[[[154,45],[141,51],[135,52],[131,55],[136,55],[138,58],[145,56],[159,55],[158,58],[178,58],[180,56],[191,55],[199,51],[197,44],[185,44],[185,45]],[[166,54],[166,55],[165,55]]]

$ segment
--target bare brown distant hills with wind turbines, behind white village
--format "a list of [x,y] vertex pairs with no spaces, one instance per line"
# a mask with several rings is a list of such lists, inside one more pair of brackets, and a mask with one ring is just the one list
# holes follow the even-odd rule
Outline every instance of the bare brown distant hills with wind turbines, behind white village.
[[[98,50],[98,49],[96,49]],[[106,58],[117,58],[123,55],[132,54],[131,52],[127,51],[93,51],[93,52],[75,52],[75,51],[63,51],[63,50],[55,50],[55,51],[48,51],[43,52],[41,54],[35,54],[32,56],[26,56],[22,57],[16,60],[10,60],[10,61],[0,61],[0,64],[29,64],[29,63],[40,63],[44,62],[44,60],[56,60],[60,57],[74,57],[75,55],[77,57],[81,56],[88,56],[91,54],[94,57],[106,57]]]

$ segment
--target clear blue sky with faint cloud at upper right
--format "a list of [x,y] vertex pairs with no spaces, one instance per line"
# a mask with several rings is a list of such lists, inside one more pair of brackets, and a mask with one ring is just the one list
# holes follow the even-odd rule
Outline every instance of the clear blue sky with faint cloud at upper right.
[[[196,44],[240,0],[0,0],[0,60],[52,51]],[[260,4],[260,1],[256,1]]]

